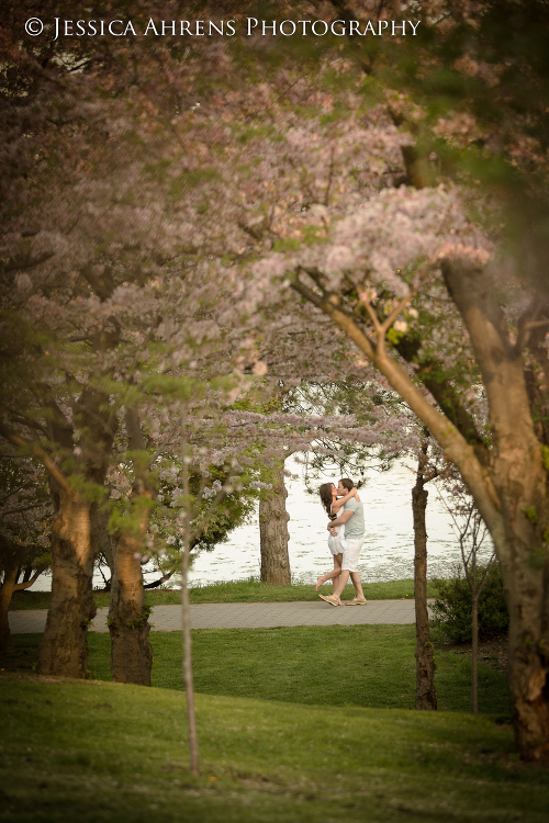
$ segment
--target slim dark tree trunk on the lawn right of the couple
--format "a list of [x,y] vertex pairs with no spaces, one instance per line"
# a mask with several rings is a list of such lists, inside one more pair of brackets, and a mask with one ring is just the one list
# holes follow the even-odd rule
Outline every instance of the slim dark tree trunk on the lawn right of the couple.
[[437,692],[435,690],[435,661],[429,633],[429,615],[427,611],[427,529],[425,511],[428,492],[424,487],[424,477],[419,467],[416,484],[412,489],[412,509],[414,515],[414,598],[416,633],[416,694],[415,708],[435,711]]

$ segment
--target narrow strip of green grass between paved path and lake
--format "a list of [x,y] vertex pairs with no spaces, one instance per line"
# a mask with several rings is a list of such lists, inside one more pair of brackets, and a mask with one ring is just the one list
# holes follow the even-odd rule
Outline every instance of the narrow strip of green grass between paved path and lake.
[[[324,586],[330,591],[330,586]],[[323,589],[323,591],[324,591]],[[352,586],[348,587],[349,594]],[[414,597],[414,580],[390,580],[389,583],[363,584],[366,597],[370,600],[391,600]],[[436,597],[437,590],[432,583],[427,585],[428,597]],[[344,597],[347,596],[347,591]],[[250,578],[234,583],[216,583],[212,586],[195,586],[190,589],[191,602],[290,602],[293,600],[316,600],[313,585],[268,586],[266,583]],[[49,591],[19,591],[11,599],[10,608],[16,609],[47,609]],[[181,602],[181,594],[173,591],[147,591],[147,600],[152,606],[165,606]],[[98,607],[109,606],[109,595],[96,594]]]

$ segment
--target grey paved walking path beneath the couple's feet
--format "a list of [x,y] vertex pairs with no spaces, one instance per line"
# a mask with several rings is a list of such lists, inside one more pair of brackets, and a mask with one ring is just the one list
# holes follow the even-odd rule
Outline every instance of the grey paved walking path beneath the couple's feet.
[[[98,609],[90,630],[107,633],[109,609]],[[13,634],[43,632],[46,609],[10,611]],[[356,625],[365,623],[414,623],[413,600],[370,600],[368,606],[334,608],[322,600],[309,602],[231,602],[191,606],[193,629],[271,629],[283,625]],[[153,631],[181,631],[180,606],[155,606]]]

